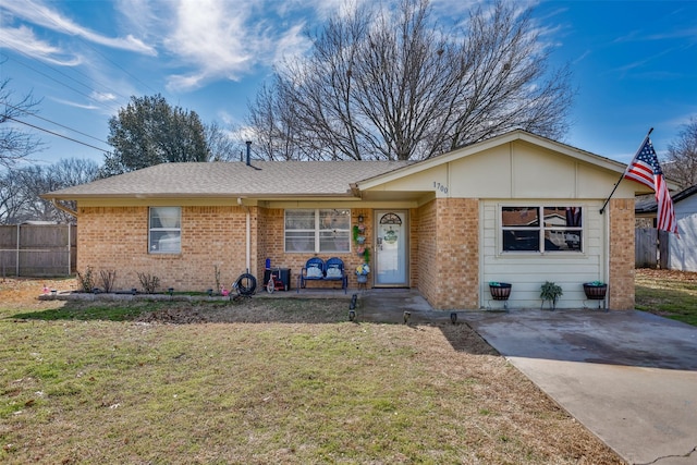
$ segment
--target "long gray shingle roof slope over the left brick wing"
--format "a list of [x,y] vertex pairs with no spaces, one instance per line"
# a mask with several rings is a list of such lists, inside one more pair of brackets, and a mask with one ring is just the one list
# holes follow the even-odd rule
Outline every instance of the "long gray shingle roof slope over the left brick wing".
[[407,161],[253,161],[162,163],[44,194],[45,198],[348,195],[351,184]]

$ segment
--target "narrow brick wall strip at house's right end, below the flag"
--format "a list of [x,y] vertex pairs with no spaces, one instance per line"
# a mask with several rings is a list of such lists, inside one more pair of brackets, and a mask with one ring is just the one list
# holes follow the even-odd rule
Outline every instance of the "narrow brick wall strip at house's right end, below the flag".
[[610,200],[610,283],[608,306],[634,309],[634,199]]

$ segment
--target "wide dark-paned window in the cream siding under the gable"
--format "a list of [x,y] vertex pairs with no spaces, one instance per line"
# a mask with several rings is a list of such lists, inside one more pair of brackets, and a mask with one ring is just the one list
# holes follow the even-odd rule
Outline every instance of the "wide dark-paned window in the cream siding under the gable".
[[582,208],[501,207],[502,252],[583,252]]

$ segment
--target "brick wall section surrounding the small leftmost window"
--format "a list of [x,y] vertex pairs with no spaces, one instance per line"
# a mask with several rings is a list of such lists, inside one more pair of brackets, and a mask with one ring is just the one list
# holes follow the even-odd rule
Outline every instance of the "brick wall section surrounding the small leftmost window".
[[[205,291],[245,270],[246,211],[241,207],[182,207],[182,253],[148,254],[148,207],[80,208],[77,270],[115,270],[115,287],[142,289],[138,272],[159,278],[160,287]],[[255,221],[253,221],[253,225]],[[98,286],[101,286],[98,283]]]

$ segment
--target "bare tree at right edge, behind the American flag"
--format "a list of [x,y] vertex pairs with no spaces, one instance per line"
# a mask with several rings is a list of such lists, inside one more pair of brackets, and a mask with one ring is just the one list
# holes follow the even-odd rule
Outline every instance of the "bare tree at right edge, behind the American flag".
[[697,118],[690,118],[683,125],[677,139],[668,145],[663,171],[682,188],[697,184]]

